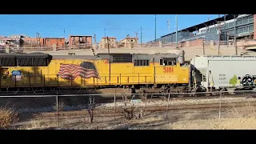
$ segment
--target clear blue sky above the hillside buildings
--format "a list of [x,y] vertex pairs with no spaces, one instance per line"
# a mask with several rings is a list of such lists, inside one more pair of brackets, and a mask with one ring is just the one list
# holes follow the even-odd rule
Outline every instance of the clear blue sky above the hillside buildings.
[[[223,14],[221,14],[223,15]],[[184,29],[207,19],[218,18],[218,14],[178,14],[178,29]],[[157,38],[175,30],[175,14],[157,14]],[[68,37],[73,35],[96,34],[97,41],[106,36],[118,40],[127,34],[135,36],[142,26],[142,42],[154,40],[154,14],[2,14],[0,15],[0,35],[26,34],[35,37]],[[140,40],[139,40],[140,41]]]

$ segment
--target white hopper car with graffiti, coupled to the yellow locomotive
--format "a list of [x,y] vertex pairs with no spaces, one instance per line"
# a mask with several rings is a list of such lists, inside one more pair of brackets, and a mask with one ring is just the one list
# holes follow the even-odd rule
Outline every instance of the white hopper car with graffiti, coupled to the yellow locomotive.
[[201,90],[256,87],[256,56],[195,56],[190,64],[195,87]]

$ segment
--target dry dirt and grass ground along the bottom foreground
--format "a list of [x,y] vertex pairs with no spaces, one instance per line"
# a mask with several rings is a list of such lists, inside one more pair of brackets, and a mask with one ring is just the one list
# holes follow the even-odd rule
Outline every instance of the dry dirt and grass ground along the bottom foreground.
[[[113,117],[95,115],[94,123],[89,117],[60,118],[56,121],[36,121],[26,124],[22,129],[55,130],[252,130],[256,129],[256,113],[254,106],[228,108],[219,110],[174,110],[166,112],[146,113],[143,118],[126,120],[123,116]],[[85,113],[86,114],[86,113]]]

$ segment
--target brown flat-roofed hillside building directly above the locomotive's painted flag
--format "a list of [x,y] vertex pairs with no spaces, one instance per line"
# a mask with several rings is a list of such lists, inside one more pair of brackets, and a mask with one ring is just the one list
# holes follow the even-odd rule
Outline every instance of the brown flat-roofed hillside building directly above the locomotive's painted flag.
[[69,45],[86,45],[93,44],[93,37],[91,35],[69,35]]

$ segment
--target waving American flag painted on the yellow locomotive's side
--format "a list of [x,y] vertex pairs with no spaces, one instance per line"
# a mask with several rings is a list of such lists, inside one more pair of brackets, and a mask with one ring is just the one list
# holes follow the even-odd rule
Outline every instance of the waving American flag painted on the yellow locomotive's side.
[[80,65],[61,63],[58,75],[65,79],[99,78],[98,70],[93,62],[82,62]]

